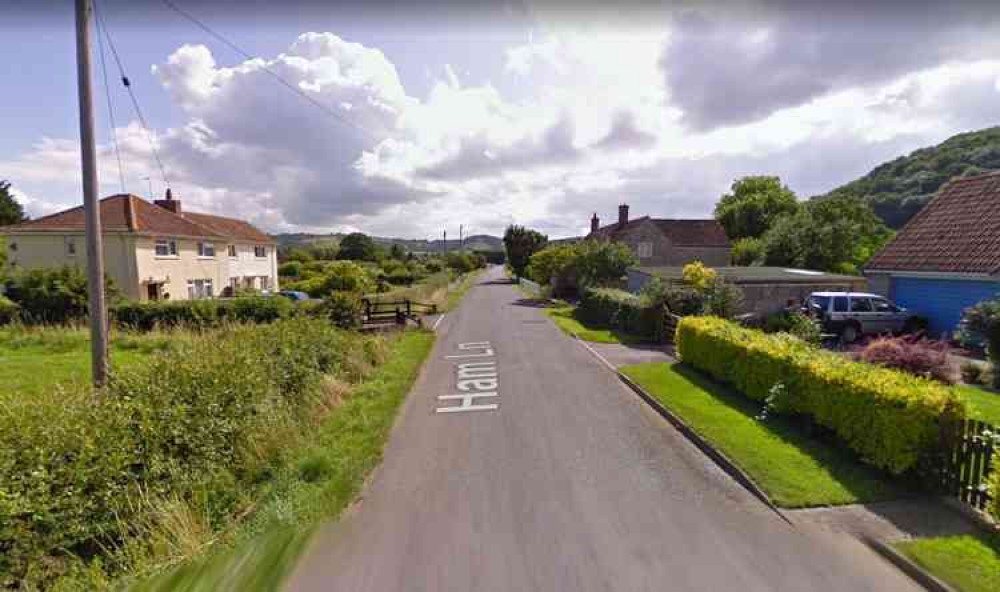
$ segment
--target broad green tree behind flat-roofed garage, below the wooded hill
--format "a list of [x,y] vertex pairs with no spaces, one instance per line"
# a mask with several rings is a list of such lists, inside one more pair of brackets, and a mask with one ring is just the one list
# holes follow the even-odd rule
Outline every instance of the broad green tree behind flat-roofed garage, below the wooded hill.
[[857,273],[893,236],[871,206],[840,194],[807,202],[764,235],[766,265]]

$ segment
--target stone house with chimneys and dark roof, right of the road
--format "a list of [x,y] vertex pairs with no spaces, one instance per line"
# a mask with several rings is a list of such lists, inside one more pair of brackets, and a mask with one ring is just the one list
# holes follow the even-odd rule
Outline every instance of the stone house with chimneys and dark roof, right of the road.
[[629,220],[627,204],[618,206],[618,222],[604,227],[595,213],[587,238],[625,243],[643,266],[680,266],[701,261],[710,267],[723,267],[731,258],[729,238],[717,221],[649,216]]

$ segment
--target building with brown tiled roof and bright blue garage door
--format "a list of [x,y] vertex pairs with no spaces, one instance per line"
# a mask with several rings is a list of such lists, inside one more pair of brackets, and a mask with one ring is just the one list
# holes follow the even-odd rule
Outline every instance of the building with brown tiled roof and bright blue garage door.
[[872,289],[950,335],[1000,293],[1000,172],[954,179],[864,269]]

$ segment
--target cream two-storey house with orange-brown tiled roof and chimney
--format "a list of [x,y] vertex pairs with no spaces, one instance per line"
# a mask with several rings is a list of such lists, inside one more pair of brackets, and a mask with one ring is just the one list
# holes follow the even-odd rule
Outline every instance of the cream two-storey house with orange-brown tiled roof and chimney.
[[[233,289],[278,289],[276,245],[247,222],[184,212],[167,190],[149,203],[134,195],[101,200],[104,265],[135,300],[186,300]],[[86,265],[83,207],[0,227],[8,263],[32,269]]]

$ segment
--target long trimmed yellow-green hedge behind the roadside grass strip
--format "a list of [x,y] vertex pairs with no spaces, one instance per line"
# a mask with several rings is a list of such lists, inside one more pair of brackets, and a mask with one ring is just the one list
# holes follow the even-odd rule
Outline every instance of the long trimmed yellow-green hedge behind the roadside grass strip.
[[866,462],[893,473],[933,450],[943,420],[966,413],[952,389],[928,379],[714,317],[684,318],[676,343],[684,363],[751,399],[763,401],[783,384],[779,413],[812,416]]

